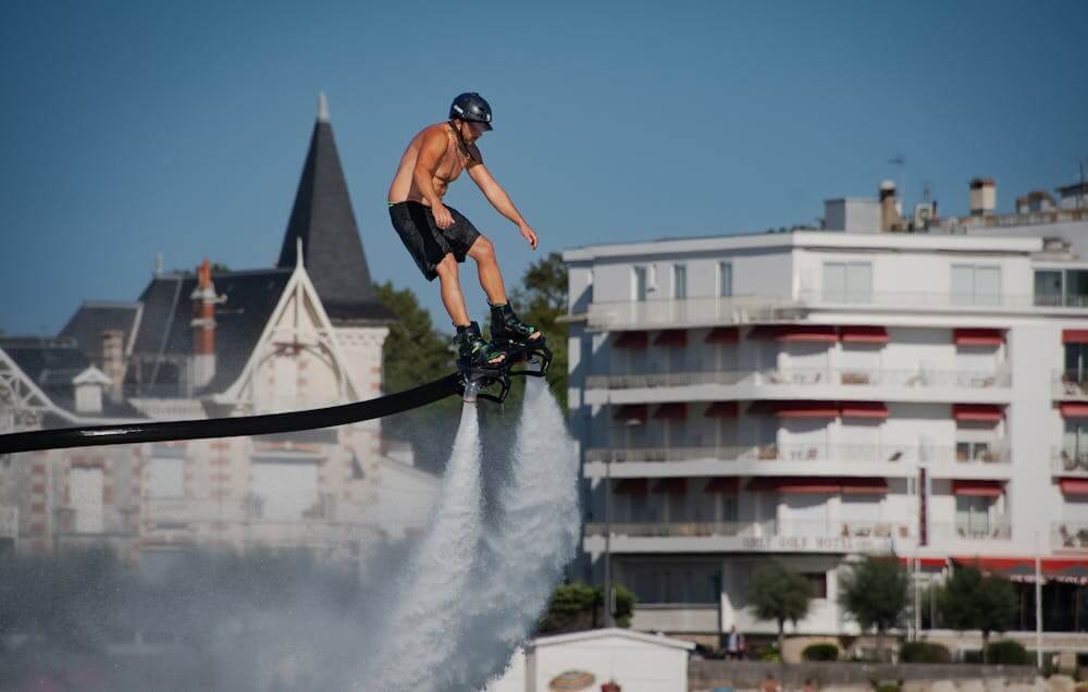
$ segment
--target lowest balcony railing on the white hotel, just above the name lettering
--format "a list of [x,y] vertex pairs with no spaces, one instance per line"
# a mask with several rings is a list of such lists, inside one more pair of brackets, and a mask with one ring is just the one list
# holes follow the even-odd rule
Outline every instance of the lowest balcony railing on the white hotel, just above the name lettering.
[[[605,535],[606,524],[585,524],[586,535]],[[636,537],[817,537],[910,539],[914,524],[907,519],[890,521],[642,521],[611,522],[611,535]]]

